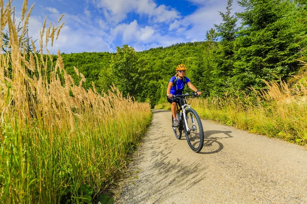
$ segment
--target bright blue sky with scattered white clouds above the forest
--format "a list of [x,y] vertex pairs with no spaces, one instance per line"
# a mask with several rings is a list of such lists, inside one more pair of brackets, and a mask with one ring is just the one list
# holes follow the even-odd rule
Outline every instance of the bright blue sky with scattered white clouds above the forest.
[[[6,3],[7,1],[5,1]],[[128,44],[137,51],[180,42],[205,40],[206,31],[222,18],[227,0],[29,0],[35,3],[29,20],[29,35],[39,38],[45,17],[65,21],[52,53],[116,52]],[[23,0],[14,0],[16,19]],[[236,1],[232,12],[239,12]],[[60,24],[60,23],[58,23]],[[58,25],[56,24],[56,25]]]

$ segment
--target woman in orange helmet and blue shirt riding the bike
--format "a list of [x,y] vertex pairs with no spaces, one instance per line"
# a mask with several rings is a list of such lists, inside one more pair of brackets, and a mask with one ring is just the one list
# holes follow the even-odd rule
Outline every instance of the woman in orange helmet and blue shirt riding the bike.
[[171,77],[167,86],[166,95],[167,101],[171,104],[171,114],[173,116],[173,125],[179,126],[179,122],[176,118],[177,103],[178,101],[173,98],[173,95],[183,94],[185,84],[188,85],[190,89],[196,92],[198,95],[201,95],[202,92],[197,90],[194,85],[190,82],[189,78],[185,77],[185,71],[187,67],[184,64],[180,64],[176,67],[177,73],[174,77]]

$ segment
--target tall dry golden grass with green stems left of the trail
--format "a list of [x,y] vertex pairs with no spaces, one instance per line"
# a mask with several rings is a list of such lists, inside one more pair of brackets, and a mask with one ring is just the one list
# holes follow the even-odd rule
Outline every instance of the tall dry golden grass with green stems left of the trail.
[[[46,19],[39,48],[27,53],[23,35],[12,20],[11,1],[1,7],[1,27],[8,25],[10,52],[0,55],[0,200],[1,203],[81,203],[114,183],[126,156],[146,130],[149,104],[124,98],[113,87],[99,94],[75,84],[65,71],[60,52],[45,47],[58,37]],[[27,27],[31,9],[22,12]],[[62,16],[61,16],[62,17]],[[60,18],[61,18],[60,17]],[[59,76],[62,76],[63,79]]]

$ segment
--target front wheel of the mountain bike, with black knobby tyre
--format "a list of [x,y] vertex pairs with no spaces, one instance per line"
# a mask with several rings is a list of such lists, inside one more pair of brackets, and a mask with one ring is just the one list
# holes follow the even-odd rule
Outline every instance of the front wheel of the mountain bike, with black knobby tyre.
[[186,110],[187,127],[184,124],[184,132],[187,142],[191,149],[195,152],[202,150],[204,146],[204,131],[200,116],[194,109]]

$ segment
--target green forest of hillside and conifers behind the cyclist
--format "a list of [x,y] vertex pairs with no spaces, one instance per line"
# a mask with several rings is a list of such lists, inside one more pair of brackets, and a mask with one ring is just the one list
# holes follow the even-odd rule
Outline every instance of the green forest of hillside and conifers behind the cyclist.
[[[266,81],[288,80],[300,74],[306,61],[306,2],[239,1],[244,12],[232,13],[232,0],[223,22],[214,24],[204,41],[177,43],[135,52],[133,47],[117,47],[116,53],[62,54],[65,68],[76,81],[76,66],[97,91],[114,83],[124,95],[151,106],[165,101],[167,83],[178,64],[187,66],[186,76],[204,96],[225,92],[261,90]],[[240,23],[238,23],[240,22]],[[295,83],[295,82],[292,82]]]

